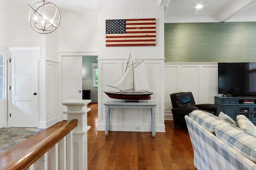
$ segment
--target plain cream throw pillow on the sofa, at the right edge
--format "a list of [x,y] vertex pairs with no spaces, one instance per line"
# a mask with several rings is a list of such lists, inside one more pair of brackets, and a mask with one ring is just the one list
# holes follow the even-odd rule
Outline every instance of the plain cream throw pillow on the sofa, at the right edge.
[[245,115],[237,115],[236,120],[237,125],[240,129],[243,129],[256,135],[256,127],[247,117],[245,117]]

